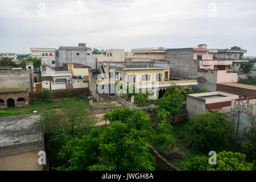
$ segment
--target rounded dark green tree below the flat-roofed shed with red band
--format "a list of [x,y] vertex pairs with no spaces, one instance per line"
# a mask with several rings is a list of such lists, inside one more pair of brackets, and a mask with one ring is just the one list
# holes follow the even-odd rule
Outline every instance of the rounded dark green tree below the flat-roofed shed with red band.
[[199,114],[187,123],[187,145],[196,150],[218,150],[232,135],[233,125],[220,113]]

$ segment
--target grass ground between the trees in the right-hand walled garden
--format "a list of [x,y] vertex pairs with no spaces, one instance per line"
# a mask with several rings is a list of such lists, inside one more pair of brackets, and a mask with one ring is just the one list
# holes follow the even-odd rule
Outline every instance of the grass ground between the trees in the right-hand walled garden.
[[[173,135],[175,138],[174,147],[170,150],[167,146],[155,147],[155,149],[159,152],[163,158],[166,158],[168,162],[174,164],[177,168],[181,169],[181,163],[187,162],[191,157],[195,157],[197,155],[207,155],[208,152],[200,152],[193,150],[191,147],[186,147],[185,140],[185,124],[188,122],[188,119],[184,119],[179,123],[172,124],[174,127]],[[220,151],[233,151],[233,152],[241,152],[242,148],[240,144],[230,143],[227,146],[220,148]],[[216,152],[220,152],[216,151]]]

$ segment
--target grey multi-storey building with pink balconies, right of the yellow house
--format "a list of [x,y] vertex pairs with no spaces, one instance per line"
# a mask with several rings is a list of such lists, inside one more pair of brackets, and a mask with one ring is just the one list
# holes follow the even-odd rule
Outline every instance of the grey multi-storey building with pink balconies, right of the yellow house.
[[197,48],[167,49],[166,61],[174,63],[171,77],[197,79],[198,85],[194,88],[204,88],[210,92],[216,91],[218,83],[237,82],[237,73],[229,71],[233,60],[228,57],[214,59],[217,53],[218,49],[208,49],[206,44],[200,44]]

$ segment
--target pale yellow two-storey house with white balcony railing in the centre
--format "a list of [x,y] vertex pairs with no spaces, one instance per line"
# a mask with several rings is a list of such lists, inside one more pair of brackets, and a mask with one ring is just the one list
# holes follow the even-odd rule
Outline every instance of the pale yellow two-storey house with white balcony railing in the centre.
[[100,63],[99,66],[103,74],[97,80],[98,85],[113,85],[119,80],[127,85],[134,84],[139,89],[147,89],[151,93],[154,92],[155,96],[159,94],[159,97],[162,97],[168,86],[172,84],[181,86],[197,85],[197,80],[170,80],[169,63],[156,63],[155,61],[105,61]]

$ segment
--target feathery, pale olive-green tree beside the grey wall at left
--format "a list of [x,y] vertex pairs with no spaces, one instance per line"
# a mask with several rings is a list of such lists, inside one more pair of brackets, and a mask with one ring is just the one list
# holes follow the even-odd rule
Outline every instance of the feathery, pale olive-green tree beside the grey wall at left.
[[96,121],[93,115],[86,113],[85,102],[76,98],[63,98],[59,102],[58,110],[49,110],[43,113],[40,127],[49,134],[50,140],[61,147],[74,137],[82,137],[89,133]]

